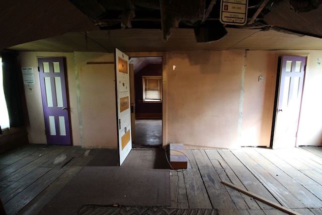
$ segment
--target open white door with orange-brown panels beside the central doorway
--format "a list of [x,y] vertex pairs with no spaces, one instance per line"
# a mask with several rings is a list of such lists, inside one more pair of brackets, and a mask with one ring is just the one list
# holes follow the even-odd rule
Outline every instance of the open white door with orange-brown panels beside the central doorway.
[[123,161],[132,149],[131,108],[130,108],[130,76],[129,57],[115,49],[116,101],[118,119],[119,161]]

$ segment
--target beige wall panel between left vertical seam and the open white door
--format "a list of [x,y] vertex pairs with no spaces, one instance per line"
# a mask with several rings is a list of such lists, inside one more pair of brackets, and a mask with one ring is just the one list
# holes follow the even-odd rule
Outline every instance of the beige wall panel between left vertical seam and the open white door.
[[86,148],[117,148],[114,54],[74,52]]

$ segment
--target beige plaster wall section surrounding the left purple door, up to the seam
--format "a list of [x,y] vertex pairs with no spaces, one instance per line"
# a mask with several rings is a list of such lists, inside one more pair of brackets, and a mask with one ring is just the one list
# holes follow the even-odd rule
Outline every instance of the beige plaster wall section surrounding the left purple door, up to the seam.
[[69,95],[69,111],[70,123],[73,145],[81,145],[78,116],[76,107],[76,94],[75,94],[75,76],[74,76],[74,59],[73,53],[67,52],[20,52],[19,61],[21,67],[32,66],[34,69],[35,84],[32,85],[32,90],[28,89],[28,85],[24,85],[25,97],[27,103],[27,122],[26,128],[28,139],[31,144],[46,144],[44,114],[41,101],[40,80],[38,73],[37,57],[65,57],[66,59],[66,72],[68,82],[68,95]]

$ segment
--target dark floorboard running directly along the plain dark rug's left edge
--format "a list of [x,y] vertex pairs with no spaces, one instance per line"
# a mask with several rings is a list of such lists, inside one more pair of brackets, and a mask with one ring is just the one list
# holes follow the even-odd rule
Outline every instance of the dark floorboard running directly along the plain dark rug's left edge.
[[32,199],[28,204],[20,209],[17,214],[33,215],[38,214],[41,209],[95,156],[95,150],[83,158],[74,158],[73,162],[66,165],[68,168],[54,182],[47,186],[39,195]]

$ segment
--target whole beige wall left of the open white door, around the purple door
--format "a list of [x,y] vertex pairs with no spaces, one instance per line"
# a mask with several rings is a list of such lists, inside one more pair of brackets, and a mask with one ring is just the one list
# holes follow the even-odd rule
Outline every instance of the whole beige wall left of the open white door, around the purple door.
[[[35,85],[32,93],[28,92],[28,86],[24,85],[29,142],[32,144],[47,142],[37,57],[65,57],[66,59],[72,144],[86,148],[117,148],[114,65],[86,64],[94,61],[114,61],[114,54],[92,52],[19,53],[21,66],[34,68]],[[79,118],[81,120],[78,120]]]

